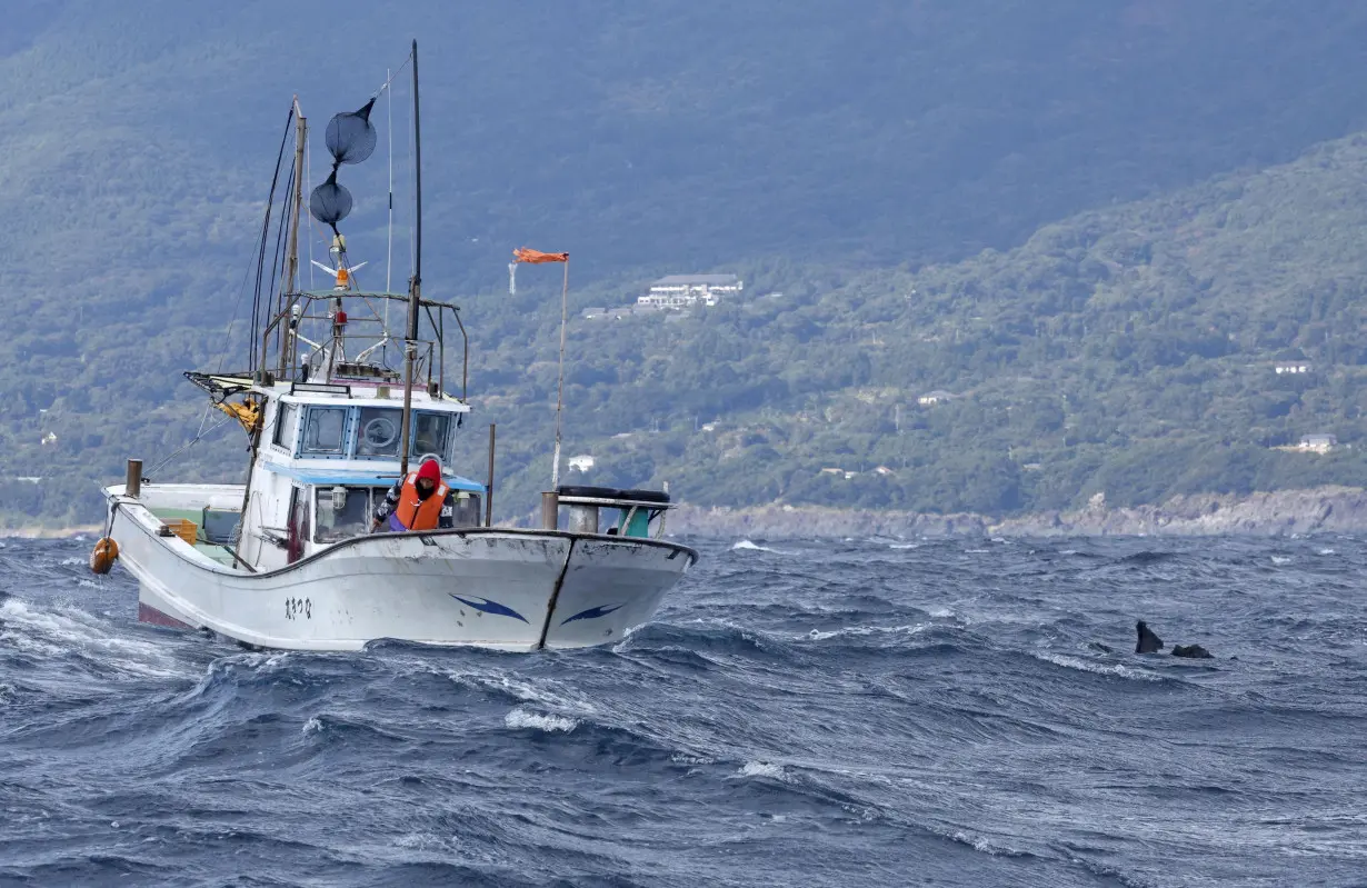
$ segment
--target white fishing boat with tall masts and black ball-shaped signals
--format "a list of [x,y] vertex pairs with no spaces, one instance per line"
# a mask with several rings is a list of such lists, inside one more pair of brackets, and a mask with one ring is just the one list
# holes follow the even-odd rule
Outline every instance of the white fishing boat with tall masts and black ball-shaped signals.
[[[107,531],[92,568],[116,563],[133,574],[146,623],[286,650],[360,650],[379,639],[518,652],[584,648],[648,622],[697,560],[693,549],[663,538],[667,493],[559,485],[559,404],[540,526],[492,522],[493,425],[485,481],[454,464],[472,410],[469,337],[455,305],[421,291],[416,41],[405,66],[414,134],[407,292],[361,288],[361,264],[350,264],[338,228],[351,209],[338,174],[373,152],[369,117],[380,93],[328,124],[332,172],[313,189],[308,209],[332,232],[328,264],[316,262],[332,286],[299,287],[308,120],[295,100],[261,234],[249,366],[185,374],[246,432],[246,481],[164,484],[145,478],[141,460],[130,459],[124,484],[104,488]],[[276,201],[276,191],[284,199]],[[390,206],[392,214],[392,160]],[[267,249],[272,232],[283,245],[278,261]],[[392,257],[392,221],[390,243]],[[566,266],[566,281],[567,275]],[[398,335],[390,331],[391,306],[405,310]],[[563,320],[562,291],[562,381]],[[462,342],[459,395],[447,383],[447,321]],[[391,348],[402,354],[402,370],[391,366]],[[376,533],[384,530],[373,516],[385,493],[413,477],[410,466],[429,460],[446,486],[440,526]]]

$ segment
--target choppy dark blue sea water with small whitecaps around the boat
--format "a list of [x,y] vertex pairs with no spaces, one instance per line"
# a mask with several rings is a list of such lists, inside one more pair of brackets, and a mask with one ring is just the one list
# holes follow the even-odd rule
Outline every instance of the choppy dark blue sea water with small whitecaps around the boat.
[[1367,542],[694,542],[526,656],[250,653],[0,541],[0,885],[1367,885]]

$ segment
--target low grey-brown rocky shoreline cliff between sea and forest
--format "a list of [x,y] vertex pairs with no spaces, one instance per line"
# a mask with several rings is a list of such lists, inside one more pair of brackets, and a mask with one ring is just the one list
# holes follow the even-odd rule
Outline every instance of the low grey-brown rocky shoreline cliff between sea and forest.
[[670,514],[671,533],[711,537],[917,537],[917,536],[1290,536],[1367,529],[1367,490],[1316,488],[1275,493],[1178,496],[1162,505],[1109,508],[1100,499],[1069,512],[995,519],[987,515],[920,515],[796,505],[697,508]]

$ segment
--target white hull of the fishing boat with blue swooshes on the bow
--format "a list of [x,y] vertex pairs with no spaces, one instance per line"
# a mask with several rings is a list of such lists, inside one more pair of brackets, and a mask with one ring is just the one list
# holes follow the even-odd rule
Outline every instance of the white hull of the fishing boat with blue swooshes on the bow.
[[658,540],[470,527],[360,537],[249,572],[159,536],[150,510],[109,496],[109,536],[139,581],[139,619],[257,648],[600,645],[648,622],[697,559]]

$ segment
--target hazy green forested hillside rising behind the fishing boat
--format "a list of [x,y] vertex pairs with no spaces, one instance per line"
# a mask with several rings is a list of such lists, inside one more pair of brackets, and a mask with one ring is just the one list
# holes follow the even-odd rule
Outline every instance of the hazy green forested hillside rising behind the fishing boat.
[[[599,458],[592,480],[668,480],[703,503],[1018,511],[1362,477],[1357,451],[1269,449],[1360,436],[1363,149],[1312,148],[1363,126],[1360,4],[7,14],[8,523],[86,521],[96,478],[195,433],[179,370],[245,351],[226,331],[290,94],[321,126],[413,34],[427,291],[466,307],[510,514],[550,474],[558,320],[550,281],[502,291],[522,243],[571,251],[580,307],[667,272],[748,284],[679,322],[576,324],[567,440]],[[383,257],[381,154],[349,180],[357,258]],[[1284,354],[1315,372],[1275,377]],[[931,389],[957,398],[924,408]],[[232,434],[180,471],[235,467]]]

